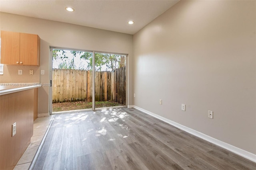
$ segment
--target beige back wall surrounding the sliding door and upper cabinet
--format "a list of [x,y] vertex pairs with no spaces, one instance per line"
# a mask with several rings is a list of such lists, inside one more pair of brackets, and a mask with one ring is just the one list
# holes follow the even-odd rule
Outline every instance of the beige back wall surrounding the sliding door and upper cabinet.
[[[0,29],[4,31],[14,31],[22,33],[38,34],[41,38],[41,59],[40,66],[36,69],[36,78],[24,75],[22,78],[16,76],[21,66],[4,66],[4,75],[0,76],[0,83],[4,82],[37,82],[48,83],[50,46],[66,47],[69,49],[81,49],[90,51],[104,51],[112,53],[128,54],[128,105],[132,105],[133,98],[133,37],[129,34],[84,27],[57,21],[42,20],[19,16],[8,13],[0,13]],[[7,70],[10,70],[8,71]],[[22,66],[22,69],[28,71],[31,66]],[[23,70],[23,72],[24,72]],[[40,75],[40,70],[45,70],[44,75]],[[18,74],[18,73],[17,73]],[[39,88],[39,106],[38,113],[44,114],[49,111],[49,87]]]

